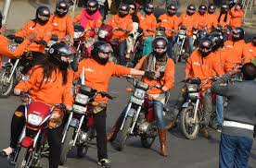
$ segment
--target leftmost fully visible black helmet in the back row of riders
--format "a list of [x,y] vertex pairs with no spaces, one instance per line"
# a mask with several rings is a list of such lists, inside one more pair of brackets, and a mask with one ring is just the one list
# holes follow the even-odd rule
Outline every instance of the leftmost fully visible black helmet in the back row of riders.
[[47,6],[39,6],[36,9],[35,19],[39,24],[45,25],[48,22],[50,16],[50,9]]

